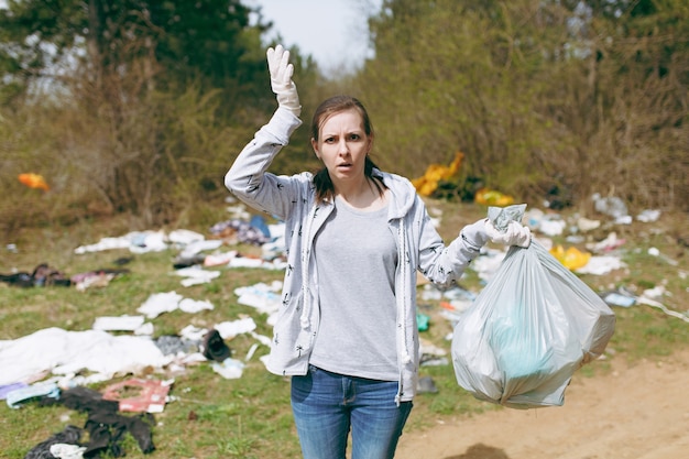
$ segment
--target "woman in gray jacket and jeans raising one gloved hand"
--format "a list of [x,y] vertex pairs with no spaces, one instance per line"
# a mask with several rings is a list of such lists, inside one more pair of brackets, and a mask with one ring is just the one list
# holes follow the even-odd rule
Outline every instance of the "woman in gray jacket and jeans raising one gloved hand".
[[416,271],[450,285],[489,240],[528,245],[485,220],[445,245],[409,181],[369,157],[374,133],[361,102],[324,101],[314,113],[316,174],[277,176],[271,161],[300,125],[281,45],[267,50],[278,108],[227,173],[228,189],[284,219],[287,269],[267,369],[292,376],[292,407],[305,458],[392,458],[418,376]]

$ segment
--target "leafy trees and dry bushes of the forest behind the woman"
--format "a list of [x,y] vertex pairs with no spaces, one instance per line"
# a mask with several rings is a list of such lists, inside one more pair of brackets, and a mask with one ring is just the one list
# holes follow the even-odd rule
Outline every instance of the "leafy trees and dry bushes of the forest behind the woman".
[[[258,21],[251,21],[258,13]],[[276,108],[264,39],[239,0],[9,0],[0,10],[0,229],[125,216],[212,223],[225,172]],[[409,178],[463,153],[438,193],[521,201],[594,192],[689,210],[689,3],[385,0],[373,57],[326,77],[293,48],[308,124],[347,92],[374,161]],[[307,127],[272,171],[316,166]],[[18,181],[37,173],[50,190]]]

